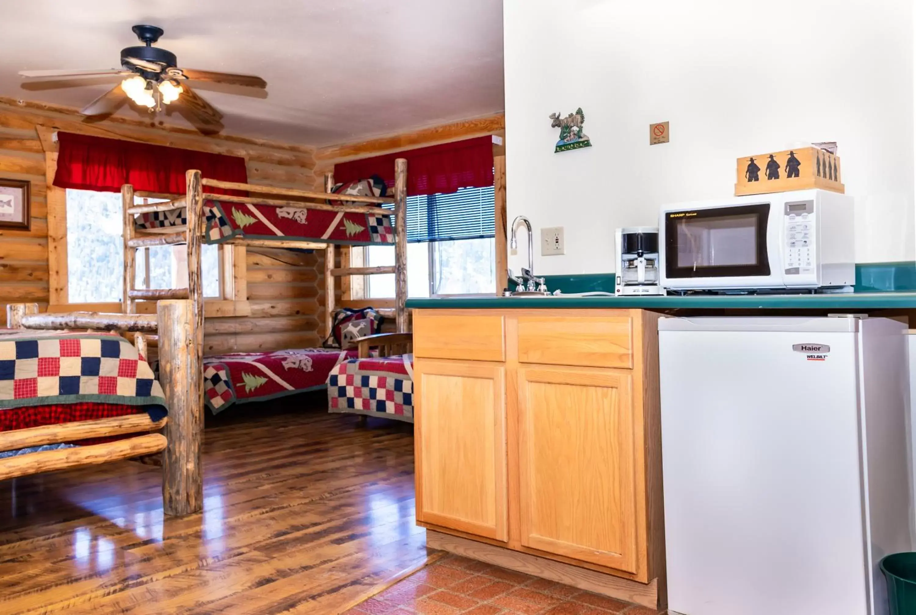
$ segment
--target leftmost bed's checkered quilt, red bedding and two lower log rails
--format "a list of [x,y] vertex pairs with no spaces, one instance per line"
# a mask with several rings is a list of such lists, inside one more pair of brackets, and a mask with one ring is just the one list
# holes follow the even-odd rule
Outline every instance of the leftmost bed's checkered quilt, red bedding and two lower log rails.
[[0,479],[153,455],[166,401],[113,333],[0,332]]

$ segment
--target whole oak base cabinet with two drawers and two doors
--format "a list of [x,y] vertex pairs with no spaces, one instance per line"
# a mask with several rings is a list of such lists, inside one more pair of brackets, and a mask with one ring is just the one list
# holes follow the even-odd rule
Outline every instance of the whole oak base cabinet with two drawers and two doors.
[[414,311],[420,525],[663,592],[657,319]]

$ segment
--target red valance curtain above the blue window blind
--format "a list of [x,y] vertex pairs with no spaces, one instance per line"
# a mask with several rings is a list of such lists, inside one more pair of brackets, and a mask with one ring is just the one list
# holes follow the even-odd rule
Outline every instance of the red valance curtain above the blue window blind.
[[378,175],[395,185],[395,159],[407,159],[409,196],[455,192],[493,185],[493,139],[490,136],[410,149],[334,165],[334,181],[365,180]]

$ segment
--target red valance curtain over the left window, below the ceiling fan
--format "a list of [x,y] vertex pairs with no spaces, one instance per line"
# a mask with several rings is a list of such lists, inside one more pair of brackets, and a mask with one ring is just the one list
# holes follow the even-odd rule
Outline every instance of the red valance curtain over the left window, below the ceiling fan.
[[[125,183],[134,190],[184,194],[185,171],[199,169],[210,180],[248,181],[245,159],[191,149],[167,148],[115,138],[59,132],[54,185],[97,192],[121,192]],[[207,187],[207,192],[225,191]]]

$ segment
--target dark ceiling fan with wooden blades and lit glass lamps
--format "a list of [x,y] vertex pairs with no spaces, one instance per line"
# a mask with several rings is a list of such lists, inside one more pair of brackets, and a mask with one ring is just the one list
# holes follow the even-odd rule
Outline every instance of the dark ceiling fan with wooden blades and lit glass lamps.
[[267,82],[252,75],[179,68],[174,53],[153,47],[153,43],[165,33],[161,27],[141,25],[132,29],[144,46],[121,49],[121,69],[19,71],[19,74],[42,81],[110,76],[121,82],[84,106],[80,111],[82,115],[111,115],[125,104],[128,98],[135,104],[146,107],[149,113],[161,111],[163,104],[174,105],[172,108],[203,134],[221,131],[224,127],[223,114],[191,90],[188,82],[214,82],[260,89],[267,87]]

